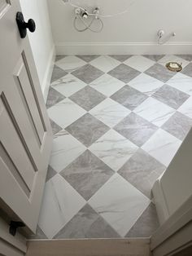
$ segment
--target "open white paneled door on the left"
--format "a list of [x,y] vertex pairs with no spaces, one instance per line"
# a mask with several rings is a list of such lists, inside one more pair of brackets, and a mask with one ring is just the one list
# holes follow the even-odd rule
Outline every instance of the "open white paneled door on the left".
[[0,0],[0,205],[35,232],[52,134],[18,11],[19,0]]

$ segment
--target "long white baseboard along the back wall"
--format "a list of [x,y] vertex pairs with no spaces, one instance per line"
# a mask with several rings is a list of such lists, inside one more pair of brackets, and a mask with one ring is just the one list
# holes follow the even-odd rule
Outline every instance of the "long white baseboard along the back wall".
[[56,43],[57,55],[173,55],[191,54],[192,42],[66,42]]

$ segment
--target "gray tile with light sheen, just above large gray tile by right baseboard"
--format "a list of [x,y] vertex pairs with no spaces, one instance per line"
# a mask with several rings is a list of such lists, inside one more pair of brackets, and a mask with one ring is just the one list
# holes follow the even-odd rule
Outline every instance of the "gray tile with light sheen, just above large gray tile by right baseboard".
[[158,128],[135,113],[130,113],[123,121],[114,127],[114,130],[141,147]]

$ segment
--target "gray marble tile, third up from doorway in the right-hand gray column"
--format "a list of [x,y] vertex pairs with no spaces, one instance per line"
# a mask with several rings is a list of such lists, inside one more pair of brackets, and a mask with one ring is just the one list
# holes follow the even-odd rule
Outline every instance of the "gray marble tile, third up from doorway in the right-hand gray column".
[[114,99],[119,104],[124,105],[124,107],[133,110],[147,99],[147,95],[144,95],[142,92],[135,90],[130,86],[124,86],[114,95],[111,95],[111,99]]

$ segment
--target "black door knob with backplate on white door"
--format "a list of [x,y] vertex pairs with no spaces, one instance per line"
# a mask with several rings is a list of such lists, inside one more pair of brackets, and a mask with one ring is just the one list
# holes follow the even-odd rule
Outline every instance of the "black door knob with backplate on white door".
[[25,38],[27,35],[27,29],[30,32],[34,32],[36,29],[36,24],[33,19],[28,20],[28,22],[24,21],[24,15],[22,12],[18,11],[16,14],[16,23],[18,26],[18,29],[20,31],[20,38]]

